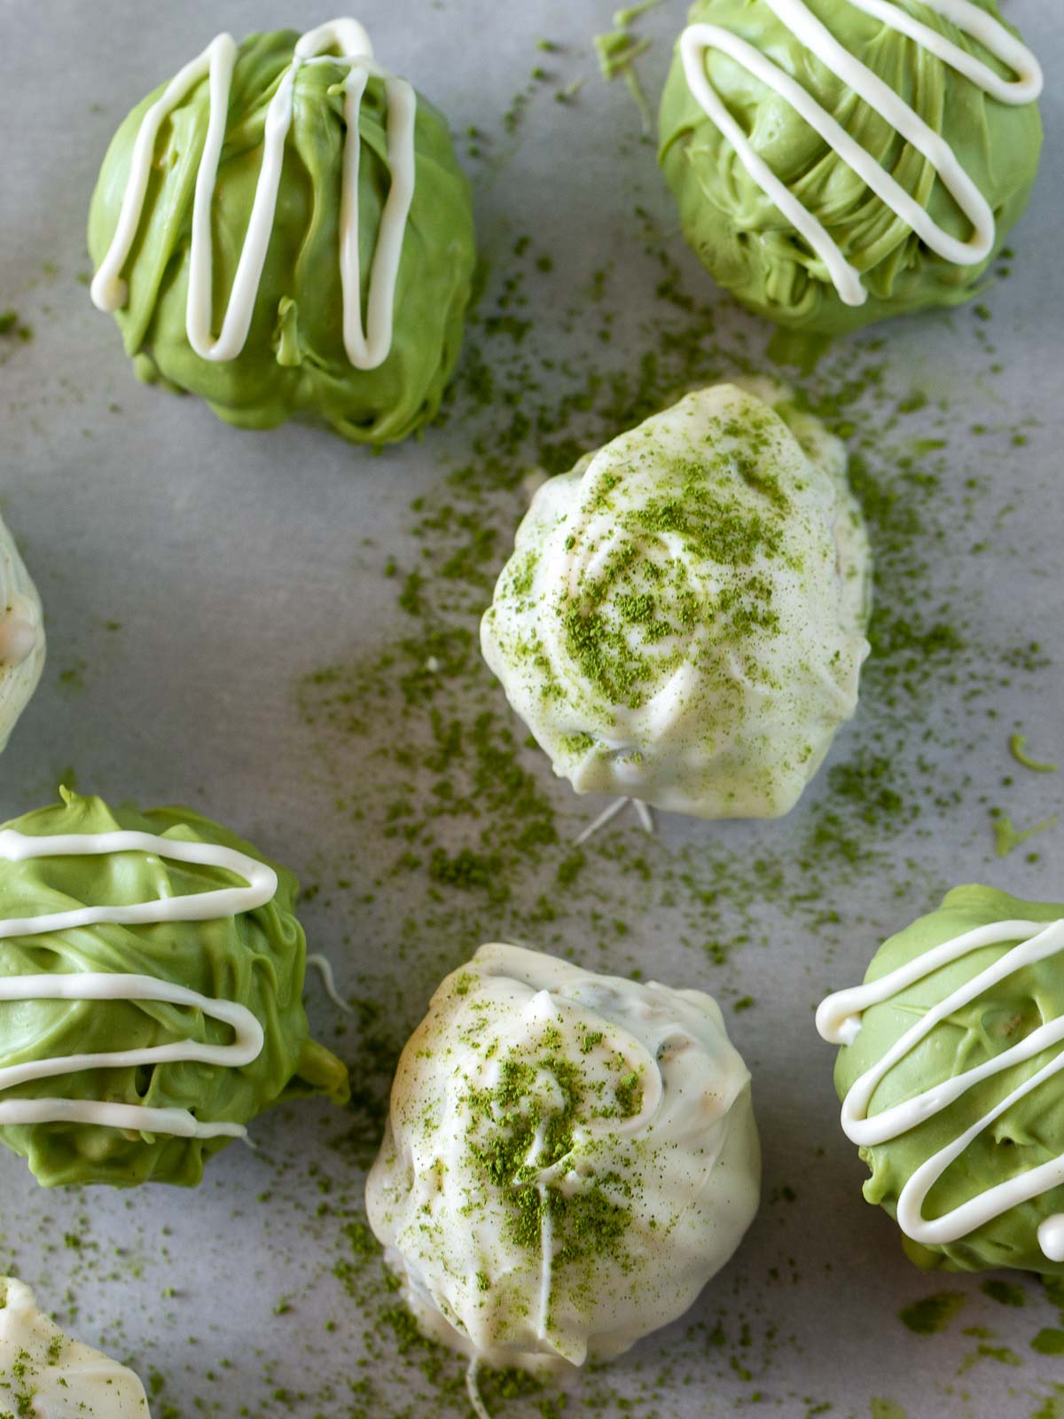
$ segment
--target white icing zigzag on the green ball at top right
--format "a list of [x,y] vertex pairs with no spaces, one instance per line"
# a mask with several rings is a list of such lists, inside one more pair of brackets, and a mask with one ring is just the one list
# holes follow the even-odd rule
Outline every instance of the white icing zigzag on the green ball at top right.
[[[985,261],[994,244],[993,211],[942,135],[929,128],[899,94],[846,50],[803,0],[765,0],[765,3],[821,64],[926,158],[960,211],[972,223],[972,234],[968,240],[960,241],[952,237],[802,84],[773,64],[760,50],[721,26],[688,26],[680,37],[680,57],[691,94],[706,118],[735,148],[739,162],[753,182],[824,263],[843,302],[846,305],[864,305],[868,292],[861,282],[860,271],[846,260],[823,223],[776,177],[728,112],[705,72],[708,50],[721,50],[728,54],[736,64],[741,64],[755,78],[785,98],[843,162],[871,187],[877,197],[912,227],[931,251],[956,265],[976,265]],[[891,0],[846,0],[846,3],[880,20],[887,28],[908,35],[1002,104],[1030,104],[1041,92],[1041,68],[1031,51],[1012,35],[999,20],[979,9],[972,0],[924,0],[924,3],[928,9],[952,21],[963,34],[977,40],[983,48],[1016,74],[1014,79],[1000,78],[982,60],[966,53],[926,24],[921,24],[919,20],[914,20]]]

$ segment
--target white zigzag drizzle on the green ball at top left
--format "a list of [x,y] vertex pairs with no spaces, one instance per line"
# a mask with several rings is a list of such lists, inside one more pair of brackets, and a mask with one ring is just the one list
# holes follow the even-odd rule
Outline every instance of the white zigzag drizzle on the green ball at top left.
[[[328,51],[338,48],[339,55]],[[308,30],[295,45],[292,62],[281,75],[270,101],[262,135],[262,166],[255,184],[244,245],[237,263],[226,316],[217,339],[211,333],[211,203],[218,163],[226,139],[233,70],[238,47],[231,34],[218,34],[207,48],[176,74],[163,94],[145,114],[133,145],[129,177],[122,197],[118,226],[111,245],[96,271],[91,295],[101,311],[125,305],[129,288],[122,280],[143,216],[148,182],[152,173],[159,129],[192,89],[207,77],[210,118],[196,173],[192,209],[192,250],[189,254],[189,297],[186,332],[189,343],[206,360],[235,359],[244,349],[262,278],[274,214],[281,186],[285,140],[292,123],[295,78],[304,65],[346,65],[343,81],[343,176],[340,183],[339,265],[343,294],[343,346],[356,369],[376,369],[392,349],[392,322],[410,203],[414,194],[414,118],[417,96],[406,79],[384,72],[373,58],[373,45],[358,20],[331,20]],[[366,301],[366,325],[362,324],[362,271],[359,264],[359,160],[362,138],[359,112],[370,75],[384,81],[387,96],[387,162],[390,186],[380,219]]]

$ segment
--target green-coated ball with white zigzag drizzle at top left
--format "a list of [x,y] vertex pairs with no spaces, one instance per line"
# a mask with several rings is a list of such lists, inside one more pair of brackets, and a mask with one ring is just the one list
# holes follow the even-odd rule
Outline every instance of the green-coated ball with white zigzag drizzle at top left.
[[440,406],[470,184],[444,118],[355,20],[213,40],[118,129],[88,240],[136,373],[227,423],[384,444]]

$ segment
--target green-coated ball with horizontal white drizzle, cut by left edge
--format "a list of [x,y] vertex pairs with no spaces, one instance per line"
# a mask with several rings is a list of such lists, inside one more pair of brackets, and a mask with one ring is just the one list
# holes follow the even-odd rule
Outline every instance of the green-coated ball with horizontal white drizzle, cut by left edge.
[[62,790],[0,829],[0,1142],[40,1183],[193,1186],[271,1104],[348,1098],[297,891],[190,809]]

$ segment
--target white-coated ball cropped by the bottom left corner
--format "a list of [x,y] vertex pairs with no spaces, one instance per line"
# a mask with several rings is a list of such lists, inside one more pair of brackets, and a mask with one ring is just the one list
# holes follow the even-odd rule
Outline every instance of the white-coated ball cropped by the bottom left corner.
[[70,1340],[28,1286],[0,1277],[0,1413],[9,1410],[27,1419],[150,1419],[132,1369]]

